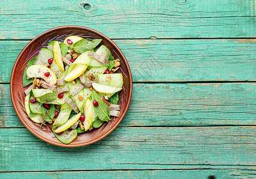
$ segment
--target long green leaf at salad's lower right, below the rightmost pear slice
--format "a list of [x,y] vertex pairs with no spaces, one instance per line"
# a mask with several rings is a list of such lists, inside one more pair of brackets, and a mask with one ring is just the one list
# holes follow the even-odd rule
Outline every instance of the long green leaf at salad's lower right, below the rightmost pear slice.
[[101,100],[95,91],[92,92],[92,100],[98,101],[99,103],[97,107],[94,106],[94,110],[101,121],[111,121],[109,106]]

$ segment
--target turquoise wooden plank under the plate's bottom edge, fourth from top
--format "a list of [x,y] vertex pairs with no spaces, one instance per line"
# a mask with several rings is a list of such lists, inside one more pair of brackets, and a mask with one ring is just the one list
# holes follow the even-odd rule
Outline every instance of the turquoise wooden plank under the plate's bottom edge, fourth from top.
[[5,128],[0,129],[0,171],[176,169],[183,165],[255,170],[255,138],[256,126],[127,127],[116,128],[95,144],[72,149],[45,143],[25,128]]

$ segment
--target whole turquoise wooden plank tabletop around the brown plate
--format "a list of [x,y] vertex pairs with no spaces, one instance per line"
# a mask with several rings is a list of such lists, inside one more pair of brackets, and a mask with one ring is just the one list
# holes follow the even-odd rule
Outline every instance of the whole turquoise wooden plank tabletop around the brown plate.
[[[0,178],[256,178],[256,1],[0,1]],[[113,39],[133,78],[110,135],[67,149],[31,134],[10,98],[31,39],[79,25]]]

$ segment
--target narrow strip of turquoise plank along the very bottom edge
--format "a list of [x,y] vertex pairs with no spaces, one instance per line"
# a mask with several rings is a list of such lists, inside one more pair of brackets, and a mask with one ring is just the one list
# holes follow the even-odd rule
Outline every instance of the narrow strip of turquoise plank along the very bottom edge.
[[179,169],[143,171],[58,171],[58,172],[7,172],[4,178],[254,178],[255,169]]

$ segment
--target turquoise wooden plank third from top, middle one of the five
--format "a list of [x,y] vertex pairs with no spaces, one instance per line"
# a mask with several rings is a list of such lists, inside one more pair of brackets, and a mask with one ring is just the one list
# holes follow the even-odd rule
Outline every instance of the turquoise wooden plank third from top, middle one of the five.
[[[119,126],[255,125],[255,87],[255,83],[134,84],[131,104]],[[0,89],[9,91],[9,85]],[[0,107],[2,127],[23,126],[9,92],[2,95]]]

